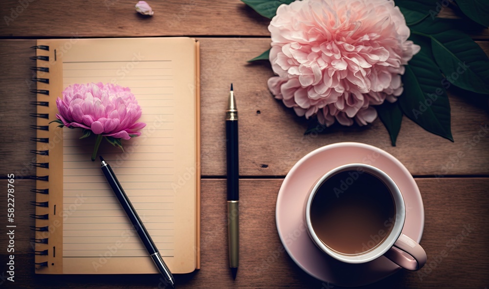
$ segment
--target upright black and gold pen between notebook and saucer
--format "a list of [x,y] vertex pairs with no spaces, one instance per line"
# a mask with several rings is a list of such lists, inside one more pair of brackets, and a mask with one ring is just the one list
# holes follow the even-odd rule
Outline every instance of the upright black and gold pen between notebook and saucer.
[[239,263],[239,163],[238,163],[238,110],[234,99],[233,84],[229,92],[226,110],[227,156],[227,234],[229,242],[229,267],[236,279]]

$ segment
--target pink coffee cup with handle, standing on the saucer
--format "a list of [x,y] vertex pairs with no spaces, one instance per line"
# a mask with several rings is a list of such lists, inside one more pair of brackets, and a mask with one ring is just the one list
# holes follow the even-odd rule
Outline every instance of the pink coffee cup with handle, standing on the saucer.
[[[345,176],[342,180],[340,180],[340,182],[342,183],[337,182],[339,180],[339,176]],[[345,244],[355,244],[356,241],[352,240],[352,236],[354,236],[355,234],[352,232],[345,233],[344,230],[342,231],[342,233],[339,233],[341,230],[337,233],[335,230],[330,228],[336,226],[335,222],[332,222],[331,219],[325,220],[324,223],[326,225],[318,223],[317,221],[312,222],[311,219],[314,219],[314,216],[318,214],[329,216],[328,213],[330,211],[328,211],[327,213],[318,212],[318,210],[325,210],[325,208],[328,207],[326,206],[328,204],[324,204],[325,206],[322,206],[323,204],[319,204],[320,206],[317,204],[317,202],[327,200],[323,198],[321,194],[329,194],[330,192],[334,192],[336,194],[335,197],[344,198],[343,200],[341,200],[343,202],[341,204],[345,204],[345,202],[347,204],[350,199],[351,202],[356,201],[353,198],[348,199],[349,197],[351,197],[351,191],[343,191],[340,189],[336,189],[336,187],[324,187],[336,184],[334,182],[337,182],[342,186],[344,185],[345,187],[356,186],[356,194],[364,198],[364,200],[369,200],[369,198],[371,197],[369,195],[369,187],[365,186],[364,183],[358,183],[360,181],[364,182],[365,177],[368,177],[372,181],[378,182],[379,184],[383,184],[383,186],[385,186],[384,189],[386,193],[384,195],[376,195],[376,197],[390,197],[391,199],[385,201],[389,202],[389,204],[392,204],[391,211],[394,212],[394,215],[392,216],[392,218],[389,218],[390,222],[388,223],[388,230],[383,230],[382,227],[379,227],[379,232],[385,231],[385,234],[381,235],[382,240],[379,241],[378,244],[375,244],[375,246],[373,245],[372,248],[366,248],[364,246],[362,249],[357,249],[355,252],[347,252],[347,250],[342,251],[342,249],[338,249],[337,247],[334,248],[332,245],[333,241],[331,240],[336,240],[335,242],[337,242],[337,240],[344,240]],[[357,184],[355,184],[355,182],[357,182]],[[358,189],[358,187],[364,187],[365,189]],[[365,194],[365,196],[361,196],[361,194]],[[334,206],[334,202],[336,202],[334,200],[334,197],[331,197],[331,199],[328,200],[330,200],[329,205]],[[315,203],[313,204],[313,202]],[[365,206],[369,206],[368,203],[369,202],[365,202]],[[359,206],[361,208],[361,206],[363,206],[362,203],[360,203]],[[359,264],[370,262],[380,256],[385,256],[400,267],[411,271],[419,270],[426,263],[426,253],[424,249],[416,241],[402,233],[402,228],[404,226],[404,221],[406,218],[406,207],[399,187],[385,172],[374,166],[364,164],[348,164],[336,167],[331,171],[325,173],[314,183],[314,185],[311,186],[311,189],[307,194],[304,212],[307,231],[309,233],[309,236],[311,237],[311,240],[319,249],[321,249],[324,253],[330,255],[336,260],[345,263]],[[339,211],[337,215],[335,215],[335,220],[338,222],[341,221],[345,224],[348,224],[350,219],[355,220],[355,218],[351,218],[352,212],[349,212],[348,210],[345,210],[344,215],[342,214],[343,212]],[[368,222],[368,218],[365,219],[367,219],[367,221],[360,221]],[[328,225],[329,223],[333,225]],[[385,222],[384,224],[386,223],[387,222]],[[344,238],[341,234],[344,234]],[[372,240],[378,241],[377,236],[370,236],[372,237]],[[331,242],[331,244],[328,244],[328,242]]]

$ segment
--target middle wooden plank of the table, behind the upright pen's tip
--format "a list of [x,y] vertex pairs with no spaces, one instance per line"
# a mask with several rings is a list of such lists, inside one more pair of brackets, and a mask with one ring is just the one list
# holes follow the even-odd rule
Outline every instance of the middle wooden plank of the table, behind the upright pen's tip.
[[[269,48],[269,39],[200,39],[201,41],[201,160],[202,175],[225,175],[224,111],[230,83],[234,83],[240,118],[240,174],[285,176],[301,157],[313,149],[336,142],[355,141],[378,146],[397,157],[414,175],[489,174],[489,137],[479,137],[480,125],[489,124],[487,98],[474,101],[466,92],[450,95],[452,133],[455,143],[424,131],[404,118],[398,145],[379,120],[366,128],[336,127],[321,135],[304,136],[307,122],[273,99],[267,79],[273,75],[267,62],[246,60]],[[0,41],[0,175],[34,175],[29,166],[35,149],[28,129],[35,107],[28,92],[34,41]],[[486,52],[489,42],[480,42]],[[33,88],[33,86],[32,86]],[[56,96],[53,96],[56,97]],[[12,109],[12,107],[15,107]],[[260,113],[258,113],[258,111]],[[484,132],[481,133],[483,135]],[[480,138],[480,139],[479,139]],[[470,143],[469,143],[470,142]],[[463,157],[460,157],[463,155]]]

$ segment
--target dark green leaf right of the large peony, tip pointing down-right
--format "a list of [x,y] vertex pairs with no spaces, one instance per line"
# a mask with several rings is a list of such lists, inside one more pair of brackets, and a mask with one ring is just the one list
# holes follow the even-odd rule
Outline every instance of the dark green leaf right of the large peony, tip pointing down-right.
[[413,122],[453,142],[450,103],[442,80],[436,63],[424,53],[418,53],[406,66],[402,76],[404,91],[398,102]]

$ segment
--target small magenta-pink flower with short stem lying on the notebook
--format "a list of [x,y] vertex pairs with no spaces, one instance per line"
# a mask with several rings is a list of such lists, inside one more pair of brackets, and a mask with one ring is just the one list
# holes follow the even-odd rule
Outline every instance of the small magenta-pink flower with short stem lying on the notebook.
[[102,137],[122,149],[120,139],[129,140],[141,135],[145,123],[138,123],[141,107],[129,87],[112,83],[73,84],[56,100],[60,126],[83,128],[86,138],[97,135],[92,161],[95,160]]

